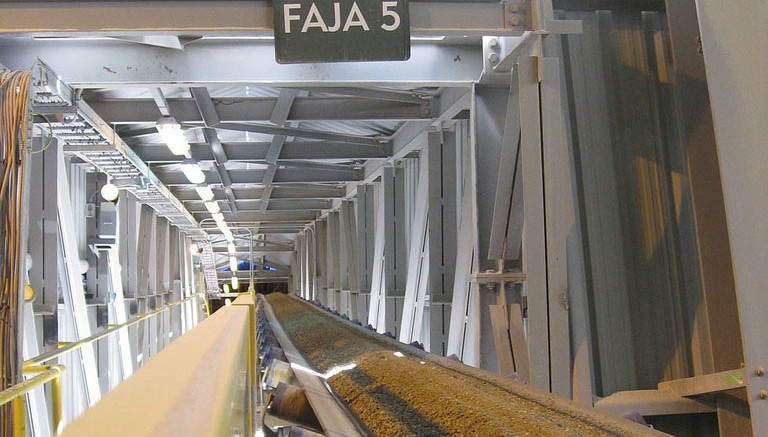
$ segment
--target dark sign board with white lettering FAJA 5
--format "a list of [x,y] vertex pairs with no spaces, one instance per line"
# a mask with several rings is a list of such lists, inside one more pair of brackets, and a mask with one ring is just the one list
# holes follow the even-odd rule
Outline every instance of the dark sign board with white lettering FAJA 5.
[[273,0],[275,58],[303,62],[404,61],[408,0]]

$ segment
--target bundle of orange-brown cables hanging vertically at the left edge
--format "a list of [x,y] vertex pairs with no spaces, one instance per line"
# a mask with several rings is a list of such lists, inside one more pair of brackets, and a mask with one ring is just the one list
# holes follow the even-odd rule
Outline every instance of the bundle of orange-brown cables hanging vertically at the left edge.
[[[22,199],[31,73],[0,74],[0,389],[21,380],[18,344],[21,300]],[[13,432],[12,405],[0,410],[0,435]]]

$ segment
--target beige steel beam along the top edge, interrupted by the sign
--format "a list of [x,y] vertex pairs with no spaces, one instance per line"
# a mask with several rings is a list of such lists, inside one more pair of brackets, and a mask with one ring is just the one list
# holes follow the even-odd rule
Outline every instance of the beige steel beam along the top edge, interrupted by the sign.
[[[274,33],[273,12],[266,1],[113,3],[109,8],[100,1],[3,3],[0,31],[130,37],[157,35],[158,31],[219,37]],[[524,9],[530,10],[530,5]],[[530,30],[524,28],[525,23],[513,25],[505,5],[498,1],[411,1],[409,10],[412,35],[509,35]]]

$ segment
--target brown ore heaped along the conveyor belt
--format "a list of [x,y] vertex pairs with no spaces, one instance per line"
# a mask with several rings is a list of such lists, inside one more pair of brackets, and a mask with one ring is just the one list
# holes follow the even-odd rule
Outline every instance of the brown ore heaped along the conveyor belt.
[[328,384],[372,435],[661,435],[520,382],[398,348],[298,298],[273,293],[267,301],[317,371],[356,364]]

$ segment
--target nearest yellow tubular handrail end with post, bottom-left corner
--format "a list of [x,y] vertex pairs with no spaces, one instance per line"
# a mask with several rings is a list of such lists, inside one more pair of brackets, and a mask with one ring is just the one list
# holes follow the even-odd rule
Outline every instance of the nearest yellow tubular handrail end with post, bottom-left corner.
[[53,415],[53,433],[58,434],[61,431],[61,379],[60,376],[64,372],[65,367],[61,364],[53,364],[50,366],[24,366],[24,373],[39,373],[39,375],[22,381],[13,387],[0,392],[0,405],[5,405],[8,402],[14,402],[14,433],[16,437],[23,437],[26,435],[26,408],[24,395],[27,392],[42,386],[43,384],[51,382],[51,397],[52,397],[52,415]]

